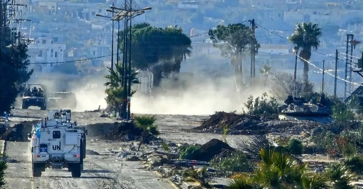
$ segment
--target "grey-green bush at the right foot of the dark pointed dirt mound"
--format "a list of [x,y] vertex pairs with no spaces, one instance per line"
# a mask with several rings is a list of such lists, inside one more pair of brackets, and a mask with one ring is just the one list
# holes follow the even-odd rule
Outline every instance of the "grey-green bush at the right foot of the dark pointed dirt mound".
[[241,151],[235,151],[226,158],[216,157],[211,160],[210,165],[218,171],[225,173],[225,175],[231,175],[232,172],[253,171],[253,164]]

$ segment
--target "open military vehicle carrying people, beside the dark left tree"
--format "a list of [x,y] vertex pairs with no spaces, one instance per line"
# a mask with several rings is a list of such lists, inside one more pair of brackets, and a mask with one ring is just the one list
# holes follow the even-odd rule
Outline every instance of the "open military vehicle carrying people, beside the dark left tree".
[[46,109],[46,87],[41,84],[28,84],[21,95],[22,109],[29,106],[38,106],[41,110]]

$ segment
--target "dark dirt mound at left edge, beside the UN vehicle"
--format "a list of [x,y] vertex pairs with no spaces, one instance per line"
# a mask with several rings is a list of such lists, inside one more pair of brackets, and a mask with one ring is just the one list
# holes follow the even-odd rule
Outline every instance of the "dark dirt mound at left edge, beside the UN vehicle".
[[9,127],[1,136],[2,140],[27,142],[28,134],[32,132],[32,126],[39,123],[39,120],[24,121]]

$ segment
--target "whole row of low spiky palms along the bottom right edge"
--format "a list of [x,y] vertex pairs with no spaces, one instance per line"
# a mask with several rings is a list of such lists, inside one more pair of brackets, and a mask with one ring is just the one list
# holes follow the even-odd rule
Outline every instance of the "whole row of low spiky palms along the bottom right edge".
[[306,163],[297,161],[284,152],[260,150],[261,161],[252,173],[240,174],[229,182],[228,189],[351,188],[354,173],[344,163],[331,165],[326,172],[312,173]]

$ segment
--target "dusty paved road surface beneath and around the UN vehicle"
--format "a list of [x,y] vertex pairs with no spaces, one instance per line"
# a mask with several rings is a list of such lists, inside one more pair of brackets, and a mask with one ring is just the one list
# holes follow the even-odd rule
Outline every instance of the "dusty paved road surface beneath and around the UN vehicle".
[[137,162],[118,161],[112,155],[88,156],[81,178],[72,178],[66,169],[46,169],[42,177],[33,178],[28,142],[7,142],[5,154],[5,189],[175,189],[170,182],[139,169]]

